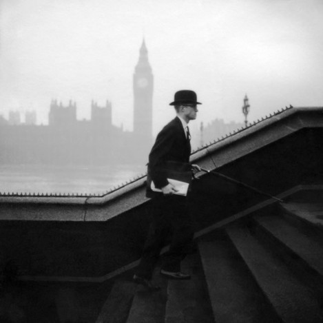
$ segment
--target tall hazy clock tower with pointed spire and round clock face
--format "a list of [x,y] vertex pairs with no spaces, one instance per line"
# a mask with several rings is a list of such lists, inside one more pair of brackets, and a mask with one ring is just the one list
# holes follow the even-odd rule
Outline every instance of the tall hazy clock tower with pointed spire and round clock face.
[[148,154],[152,146],[152,93],[154,76],[149,65],[145,40],[134,70],[134,137],[138,153]]

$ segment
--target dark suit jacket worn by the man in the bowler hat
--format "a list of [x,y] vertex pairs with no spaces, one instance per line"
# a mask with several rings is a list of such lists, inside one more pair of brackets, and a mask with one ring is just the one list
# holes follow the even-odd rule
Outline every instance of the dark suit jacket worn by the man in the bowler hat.
[[[167,123],[159,132],[156,142],[149,154],[148,178],[147,178],[147,197],[154,197],[156,193],[150,188],[151,180],[157,188],[168,184],[167,167],[186,169],[191,171],[189,166],[189,156],[191,155],[191,144],[185,136],[185,131],[180,119],[176,116]],[[169,166],[171,165],[171,166]],[[189,168],[188,168],[189,167]]]

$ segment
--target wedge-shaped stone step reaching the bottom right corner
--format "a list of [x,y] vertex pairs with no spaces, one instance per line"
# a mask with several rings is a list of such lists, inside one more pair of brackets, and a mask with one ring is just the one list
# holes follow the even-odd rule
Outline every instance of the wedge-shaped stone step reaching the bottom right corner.
[[251,236],[249,229],[234,226],[227,228],[227,233],[282,322],[322,322],[314,293]]

